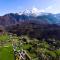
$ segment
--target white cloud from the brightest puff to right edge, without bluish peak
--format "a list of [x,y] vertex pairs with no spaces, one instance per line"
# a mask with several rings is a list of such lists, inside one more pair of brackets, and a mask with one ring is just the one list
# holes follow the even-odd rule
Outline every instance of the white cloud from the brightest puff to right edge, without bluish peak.
[[36,7],[32,8],[32,13],[40,14],[41,12],[53,13],[53,14],[60,13],[60,7],[56,7],[56,6],[51,5],[45,9],[38,9]]

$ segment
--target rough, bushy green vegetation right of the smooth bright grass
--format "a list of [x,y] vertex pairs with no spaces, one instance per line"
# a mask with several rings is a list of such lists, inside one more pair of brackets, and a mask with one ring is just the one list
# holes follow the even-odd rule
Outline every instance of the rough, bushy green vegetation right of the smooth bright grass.
[[[37,39],[30,39],[29,37],[22,36],[18,44],[21,49],[24,49],[32,60],[59,60],[60,49],[55,49],[53,45],[48,44],[46,41],[39,41]],[[28,40],[27,40],[28,39]],[[24,41],[25,40],[25,41]],[[57,57],[59,56],[59,57]]]

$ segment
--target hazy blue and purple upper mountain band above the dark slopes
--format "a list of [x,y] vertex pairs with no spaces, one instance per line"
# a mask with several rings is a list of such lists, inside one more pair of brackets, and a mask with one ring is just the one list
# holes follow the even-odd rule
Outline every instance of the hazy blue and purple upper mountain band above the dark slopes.
[[60,25],[60,14],[42,13],[38,16],[36,14],[15,14],[9,13],[0,16],[0,25],[8,26],[20,22],[36,22],[38,24],[57,24]]

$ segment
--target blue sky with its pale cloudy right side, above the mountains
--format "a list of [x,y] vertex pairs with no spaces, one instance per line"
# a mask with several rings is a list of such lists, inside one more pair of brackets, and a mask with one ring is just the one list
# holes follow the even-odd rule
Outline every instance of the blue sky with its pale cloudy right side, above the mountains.
[[0,0],[0,15],[19,13],[26,9],[32,9],[35,13],[60,13],[60,0]]

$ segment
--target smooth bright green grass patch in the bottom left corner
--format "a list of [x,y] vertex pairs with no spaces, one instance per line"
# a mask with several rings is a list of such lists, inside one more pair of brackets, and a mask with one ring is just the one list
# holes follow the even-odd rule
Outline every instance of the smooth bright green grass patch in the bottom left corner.
[[0,60],[14,60],[12,46],[0,47]]

